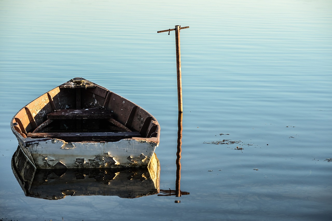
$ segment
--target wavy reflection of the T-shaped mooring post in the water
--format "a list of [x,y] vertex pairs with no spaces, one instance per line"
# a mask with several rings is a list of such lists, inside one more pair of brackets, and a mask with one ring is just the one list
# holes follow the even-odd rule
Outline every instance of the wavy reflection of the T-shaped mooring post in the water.
[[[182,112],[179,112],[178,115],[178,145],[176,152],[176,181],[175,181],[175,190],[160,190],[158,196],[174,196],[181,197],[181,195],[189,195],[189,192],[181,191],[180,181],[181,181],[181,149],[182,146]],[[175,203],[180,203],[180,200],[175,200]]]

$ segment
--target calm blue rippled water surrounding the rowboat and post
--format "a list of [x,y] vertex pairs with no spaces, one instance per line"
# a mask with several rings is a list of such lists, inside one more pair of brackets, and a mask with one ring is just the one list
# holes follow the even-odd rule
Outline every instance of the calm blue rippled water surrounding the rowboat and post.
[[[0,219],[330,220],[331,12],[327,0],[1,0]],[[181,30],[181,190],[190,195],[25,196],[10,120],[74,77],[158,119],[160,189],[175,190],[175,40],[157,33],[175,25],[190,26]]]

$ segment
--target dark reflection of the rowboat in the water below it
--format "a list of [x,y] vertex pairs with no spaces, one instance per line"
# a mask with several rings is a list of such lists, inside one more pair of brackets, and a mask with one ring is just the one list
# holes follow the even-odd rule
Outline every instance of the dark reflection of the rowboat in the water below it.
[[147,168],[35,169],[20,146],[12,170],[26,196],[62,199],[67,195],[136,198],[159,193],[160,164],[153,154]]

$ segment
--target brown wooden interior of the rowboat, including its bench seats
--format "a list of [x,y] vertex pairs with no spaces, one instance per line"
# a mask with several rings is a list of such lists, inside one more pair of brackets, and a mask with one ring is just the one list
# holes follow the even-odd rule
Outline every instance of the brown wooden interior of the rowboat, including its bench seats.
[[23,138],[118,141],[157,138],[159,124],[144,109],[104,87],[72,79],[41,95],[13,118]]

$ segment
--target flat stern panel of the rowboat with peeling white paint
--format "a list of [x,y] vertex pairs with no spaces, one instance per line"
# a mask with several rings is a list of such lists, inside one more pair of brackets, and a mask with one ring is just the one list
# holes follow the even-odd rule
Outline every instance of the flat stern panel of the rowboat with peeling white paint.
[[[35,139],[25,152],[37,168],[113,168],[147,166],[156,148],[153,138],[130,138],[117,142],[71,142]],[[51,141],[51,142],[50,142]],[[129,156],[129,157],[128,157]],[[78,160],[77,159],[82,159]],[[60,163],[60,164],[57,164]]]

